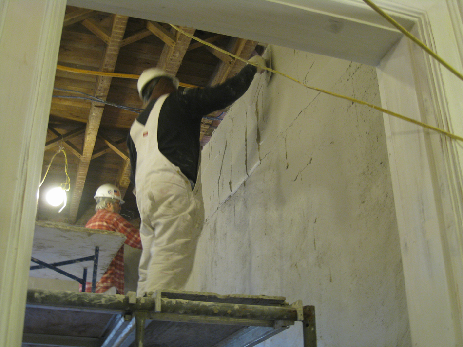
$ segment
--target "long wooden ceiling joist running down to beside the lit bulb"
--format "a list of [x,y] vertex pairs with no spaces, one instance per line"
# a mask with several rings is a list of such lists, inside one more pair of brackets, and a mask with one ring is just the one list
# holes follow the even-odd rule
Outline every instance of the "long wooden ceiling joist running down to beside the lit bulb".
[[[117,56],[119,54],[120,44],[124,37],[125,29],[127,26],[127,16],[114,15],[113,25],[110,34],[109,44],[103,55],[101,63],[101,71],[114,72],[116,66]],[[111,85],[112,77],[100,76],[96,80],[95,96],[100,99],[106,99]],[[104,107],[96,106],[92,103],[90,108],[87,127],[85,130],[85,139],[82,150],[82,159],[77,167],[77,176],[74,184],[73,194],[70,202],[69,222],[75,223],[77,213],[82,197],[83,188],[87,178],[88,168],[92,159],[93,149],[95,147],[96,135],[101,122]]]

